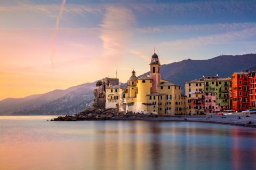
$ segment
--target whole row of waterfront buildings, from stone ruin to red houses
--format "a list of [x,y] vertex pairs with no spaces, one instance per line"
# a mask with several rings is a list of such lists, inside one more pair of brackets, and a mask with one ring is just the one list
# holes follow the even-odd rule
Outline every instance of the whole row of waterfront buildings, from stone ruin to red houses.
[[102,79],[101,91],[106,108],[123,114],[207,115],[225,110],[255,109],[256,74],[235,72],[231,78],[203,76],[181,86],[161,78],[161,63],[156,52],[151,57],[150,75],[137,77],[132,71],[126,84],[118,78]]

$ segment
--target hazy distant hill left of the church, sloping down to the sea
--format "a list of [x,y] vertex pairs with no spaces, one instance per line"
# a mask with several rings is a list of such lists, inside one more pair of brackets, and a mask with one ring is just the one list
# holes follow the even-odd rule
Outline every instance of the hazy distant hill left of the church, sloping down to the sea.
[[86,104],[93,101],[94,88],[95,82],[21,99],[4,99],[0,101],[0,115],[71,114],[85,109]]

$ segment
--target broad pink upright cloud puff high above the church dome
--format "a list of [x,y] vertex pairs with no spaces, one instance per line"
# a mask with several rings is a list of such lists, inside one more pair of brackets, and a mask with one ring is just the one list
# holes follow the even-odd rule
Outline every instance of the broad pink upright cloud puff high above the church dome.
[[105,57],[121,58],[133,34],[135,21],[135,15],[126,7],[119,5],[106,7],[100,36]]

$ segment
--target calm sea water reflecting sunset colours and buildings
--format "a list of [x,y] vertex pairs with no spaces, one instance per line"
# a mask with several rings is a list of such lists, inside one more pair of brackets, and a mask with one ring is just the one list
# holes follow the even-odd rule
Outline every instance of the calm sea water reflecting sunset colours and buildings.
[[256,169],[256,129],[0,116],[0,169]]

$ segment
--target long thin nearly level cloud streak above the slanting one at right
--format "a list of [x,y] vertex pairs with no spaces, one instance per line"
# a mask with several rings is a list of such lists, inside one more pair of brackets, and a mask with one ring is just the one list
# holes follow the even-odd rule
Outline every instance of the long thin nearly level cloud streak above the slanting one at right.
[[187,31],[231,31],[256,27],[256,22],[213,23],[204,25],[173,25],[138,28],[139,33],[187,32]]

